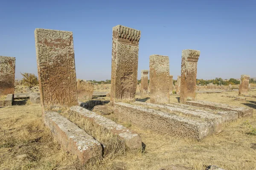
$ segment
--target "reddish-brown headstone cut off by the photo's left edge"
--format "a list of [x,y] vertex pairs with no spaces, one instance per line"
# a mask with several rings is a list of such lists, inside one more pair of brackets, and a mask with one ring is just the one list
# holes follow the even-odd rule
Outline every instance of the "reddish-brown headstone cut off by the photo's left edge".
[[0,56],[0,96],[14,94],[15,57]]

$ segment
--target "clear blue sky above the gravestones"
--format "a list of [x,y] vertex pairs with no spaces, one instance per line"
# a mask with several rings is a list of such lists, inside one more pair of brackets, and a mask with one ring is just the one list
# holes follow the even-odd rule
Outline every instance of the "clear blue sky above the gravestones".
[[112,28],[141,31],[140,70],[152,54],[169,56],[180,75],[183,49],[200,50],[198,79],[256,77],[256,0],[5,0],[0,4],[0,56],[37,73],[35,28],[72,31],[76,77],[111,79]]

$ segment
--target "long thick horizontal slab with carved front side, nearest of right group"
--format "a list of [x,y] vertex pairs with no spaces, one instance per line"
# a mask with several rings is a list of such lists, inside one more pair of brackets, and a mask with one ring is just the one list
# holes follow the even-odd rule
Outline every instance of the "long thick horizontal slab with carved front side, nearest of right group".
[[207,135],[212,134],[212,129],[208,128],[207,122],[192,120],[128,103],[114,103],[114,113],[118,115],[121,121],[131,122],[155,133],[198,140],[202,140]]

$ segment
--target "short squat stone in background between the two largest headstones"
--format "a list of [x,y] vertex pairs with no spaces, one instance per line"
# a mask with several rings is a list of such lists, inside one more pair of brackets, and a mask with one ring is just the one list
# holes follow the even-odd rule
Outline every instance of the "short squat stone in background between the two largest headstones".
[[77,79],[77,96],[79,99],[92,99],[93,98],[93,82]]

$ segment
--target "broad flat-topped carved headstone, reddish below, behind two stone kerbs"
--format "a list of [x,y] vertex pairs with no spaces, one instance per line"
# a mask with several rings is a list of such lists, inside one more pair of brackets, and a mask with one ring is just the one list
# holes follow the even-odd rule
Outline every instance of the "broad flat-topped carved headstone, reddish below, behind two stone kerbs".
[[73,33],[35,29],[41,105],[78,105]]

